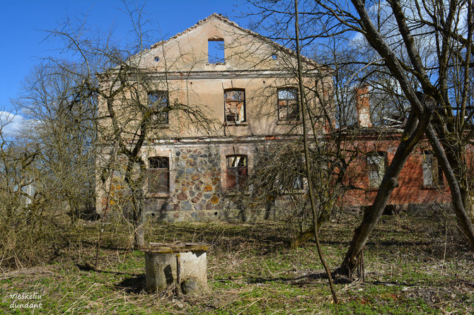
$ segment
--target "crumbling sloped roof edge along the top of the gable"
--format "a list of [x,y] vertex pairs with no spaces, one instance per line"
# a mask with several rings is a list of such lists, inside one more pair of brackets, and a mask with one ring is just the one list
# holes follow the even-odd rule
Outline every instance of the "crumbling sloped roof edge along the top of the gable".
[[[294,52],[292,49],[284,47],[282,44],[278,44],[277,42],[274,42],[274,41],[270,40],[268,37],[265,37],[263,35],[258,34],[258,32],[253,32],[253,30],[248,30],[247,28],[242,28],[237,23],[229,20],[229,18],[226,18],[226,17],[224,17],[224,16],[222,16],[221,14],[218,14],[218,13],[212,13],[210,16],[208,16],[207,18],[204,18],[203,20],[200,20],[195,25],[192,25],[190,28],[187,28],[186,30],[183,30],[183,32],[179,32],[178,34],[173,35],[172,37],[168,38],[168,40],[161,40],[160,42],[156,42],[155,44],[152,44],[150,46],[150,49],[154,49],[156,47],[167,44],[168,42],[170,42],[172,40],[175,40],[176,38],[187,34],[191,30],[194,30],[195,28],[199,27],[200,25],[203,25],[204,23],[207,22],[207,20],[210,20],[211,18],[216,18],[218,20],[221,20],[221,22],[224,22],[228,25],[231,25],[234,28],[238,28],[238,30],[241,30],[242,32],[245,32],[247,35],[257,37],[259,40],[262,40],[263,42],[265,42],[267,44],[270,44],[270,46],[274,47],[276,52],[284,52],[285,54],[288,54],[288,55],[296,58],[296,52]],[[146,52],[148,50],[149,49],[144,50],[144,52]],[[310,64],[311,66],[314,66],[316,69],[318,69],[318,71],[326,72],[326,73],[333,72],[333,69],[331,69],[330,67],[322,66],[322,65],[318,64],[316,61],[314,61],[314,60],[312,60],[308,57],[305,57],[303,55],[301,55],[301,60],[304,61],[306,64]]]

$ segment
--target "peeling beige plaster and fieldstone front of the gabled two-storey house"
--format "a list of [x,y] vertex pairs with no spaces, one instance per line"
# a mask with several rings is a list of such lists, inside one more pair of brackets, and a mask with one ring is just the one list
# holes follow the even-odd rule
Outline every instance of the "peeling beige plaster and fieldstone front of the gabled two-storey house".
[[[208,47],[215,41],[224,43],[224,62],[209,59]],[[202,128],[182,112],[170,111],[168,122],[150,134],[140,154],[148,168],[155,163],[165,170],[168,163],[168,189],[153,191],[153,185],[146,181],[145,218],[169,222],[228,218],[231,214],[224,196],[230,188],[229,159],[238,157],[245,164],[245,172],[250,173],[262,143],[301,136],[299,107],[293,100],[296,97],[297,102],[297,95],[292,94],[297,89],[294,52],[223,16],[214,13],[152,45],[133,61],[152,73],[150,90],[166,91],[170,104],[197,107],[209,119],[209,126]],[[318,83],[306,78],[305,84],[330,90],[330,70],[310,59],[303,61],[311,76],[319,78]],[[307,96],[308,104],[317,108],[315,95]],[[104,107],[102,104],[103,112]],[[323,122],[316,121],[316,128],[323,133]],[[112,149],[105,154],[111,155]],[[97,189],[98,213],[108,202],[108,186],[112,206],[127,196],[126,185],[117,173],[111,184],[109,179],[102,186],[105,189]],[[230,182],[235,184],[235,180]]]

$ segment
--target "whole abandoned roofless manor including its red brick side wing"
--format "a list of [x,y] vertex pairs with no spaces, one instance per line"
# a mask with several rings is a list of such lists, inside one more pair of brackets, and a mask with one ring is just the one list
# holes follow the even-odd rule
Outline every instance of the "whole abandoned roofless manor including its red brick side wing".
[[[306,102],[318,112],[320,95],[330,95],[333,88],[332,69],[302,59],[304,84],[311,87]],[[227,196],[255,171],[259,150],[269,143],[301,138],[296,54],[228,18],[214,13],[152,45],[134,61],[151,78],[139,97],[157,109],[139,150],[146,170],[145,218],[168,222],[225,218],[231,205]],[[103,86],[107,88],[110,81],[104,79]],[[366,154],[352,177],[352,184],[361,189],[347,191],[343,201],[347,206],[368,206],[374,200],[402,131],[401,126],[383,132],[371,126],[368,90],[366,94],[357,97],[361,131],[354,141]],[[106,112],[108,103],[99,104],[99,111]],[[116,113],[130,121],[137,115],[129,109]],[[328,132],[325,119],[311,123],[320,136]],[[112,122],[105,127],[108,124]],[[130,133],[126,141],[132,145],[141,140]],[[102,157],[110,159],[114,150],[112,142],[105,143]],[[98,157],[98,167],[104,161]],[[105,182],[98,180],[98,213],[106,206],[126,204],[121,201],[129,190],[123,174],[116,170]],[[399,182],[389,201],[392,206],[449,201],[436,157],[425,143],[408,159]]]

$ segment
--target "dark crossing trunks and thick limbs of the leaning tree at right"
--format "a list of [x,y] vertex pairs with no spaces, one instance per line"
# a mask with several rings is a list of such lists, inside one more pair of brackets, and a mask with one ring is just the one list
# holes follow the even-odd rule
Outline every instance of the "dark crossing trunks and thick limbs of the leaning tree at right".
[[[416,10],[411,11],[415,13],[415,16],[412,17],[408,15],[411,13],[403,9],[400,2],[390,1],[389,10],[391,10],[398,26],[398,30],[395,29],[395,31],[402,37],[401,44],[408,55],[409,63],[405,63],[394,53],[393,47],[374,25],[366,9],[366,6],[370,5],[358,1],[352,1],[352,3],[359,16],[354,16],[357,26],[351,26],[353,29],[363,32],[366,40],[384,58],[387,68],[400,83],[400,87],[410,102],[412,116],[420,121],[417,124],[418,131],[413,134],[426,132],[432,148],[441,162],[444,174],[446,174],[451,196],[453,197],[453,208],[458,216],[458,221],[471,246],[474,247],[474,229],[466,211],[466,209],[472,208],[470,193],[466,185],[468,170],[463,162],[466,144],[470,142],[471,137],[471,117],[466,105],[471,95],[472,4],[470,1],[451,1],[449,3],[437,1],[434,4],[414,1],[411,5]],[[330,5],[333,5],[330,3],[320,4],[323,8],[329,8]],[[460,19],[464,11],[467,11],[466,23],[461,23]],[[426,20],[427,16],[429,16],[431,22]],[[424,32],[426,32],[424,35],[420,35],[417,31],[419,25],[422,25]],[[420,44],[422,43],[417,41],[417,38],[427,35],[433,37],[438,43],[437,49],[430,56],[431,58],[422,59],[420,54]],[[453,54],[456,55],[454,59],[451,58]],[[461,64],[461,66],[457,66],[458,64]],[[438,78],[435,82],[430,80],[429,71],[437,73]],[[456,73],[456,77],[460,78],[460,81],[458,81],[458,84],[449,86],[448,78],[451,73]],[[415,87],[408,81],[410,77],[415,78],[423,93],[432,97],[437,103],[436,106],[427,106],[426,102],[422,102],[420,97],[415,95]],[[458,95],[459,97],[456,98],[451,95]],[[434,112],[434,117],[432,123],[430,123],[432,112]],[[409,127],[405,129],[405,133],[408,129]],[[404,148],[407,136],[402,138],[397,153],[405,149],[406,155],[412,150],[410,144]],[[417,136],[413,138],[413,141],[417,141],[419,138],[420,136]],[[456,141],[453,141],[454,139]],[[403,156],[401,152],[400,156]],[[374,206],[372,206],[371,211],[354,234],[354,239],[341,267],[345,273],[350,273],[357,264],[356,257],[362,250],[369,232],[374,227],[374,223],[380,218],[383,207],[386,205],[387,197],[384,198],[384,195],[389,195],[391,189],[393,189],[391,187],[397,185],[396,179],[399,172],[396,169],[401,169],[404,162],[403,159],[394,159],[391,163],[391,167],[389,167],[386,177],[383,179],[383,189],[379,190]],[[397,165],[399,166],[397,167]]]

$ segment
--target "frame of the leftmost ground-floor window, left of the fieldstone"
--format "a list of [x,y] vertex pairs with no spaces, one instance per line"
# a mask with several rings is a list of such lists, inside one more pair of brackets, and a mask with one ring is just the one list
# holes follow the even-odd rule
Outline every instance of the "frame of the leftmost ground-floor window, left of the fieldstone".
[[[151,179],[151,176],[156,176],[156,175],[160,176],[161,174],[164,174],[166,177],[166,185],[163,185],[164,187],[163,189],[160,189],[160,186],[162,184],[160,183],[161,179]],[[170,193],[170,158],[168,156],[149,157],[146,179],[147,179],[147,193],[149,195],[169,194]],[[157,185],[156,186],[157,188],[154,187],[155,184]]]

